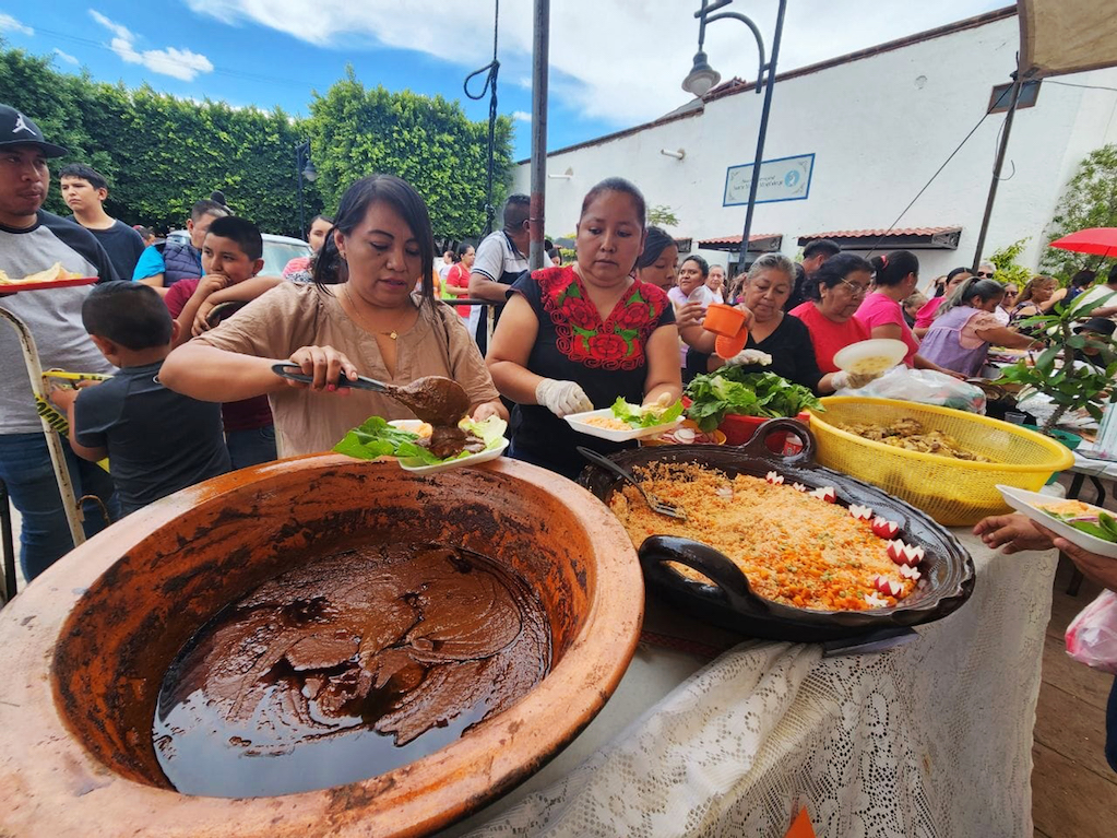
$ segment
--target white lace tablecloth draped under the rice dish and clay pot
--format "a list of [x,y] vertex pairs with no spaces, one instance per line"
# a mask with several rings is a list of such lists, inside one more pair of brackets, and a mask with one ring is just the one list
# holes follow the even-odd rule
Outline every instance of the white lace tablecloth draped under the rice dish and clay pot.
[[445,835],[1031,838],[1031,744],[1057,556],[993,554],[960,611],[879,655],[750,642],[705,668],[641,646],[596,720]]

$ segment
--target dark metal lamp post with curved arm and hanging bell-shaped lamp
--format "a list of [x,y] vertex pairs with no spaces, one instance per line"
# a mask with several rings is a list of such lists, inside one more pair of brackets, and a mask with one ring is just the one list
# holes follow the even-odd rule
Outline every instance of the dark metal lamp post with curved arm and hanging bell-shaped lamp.
[[738,261],[738,273],[745,269],[748,254],[748,236],[753,229],[753,210],[756,207],[756,187],[761,179],[761,163],[764,159],[764,137],[767,135],[768,113],[772,109],[772,89],[775,87],[775,64],[780,57],[780,38],[783,36],[783,16],[787,8],[787,0],[779,0],[780,8],[775,18],[775,34],[772,37],[772,58],[764,61],[764,39],[761,30],[751,18],[736,11],[720,11],[733,0],[701,0],[701,8],[695,12],[698,18],[698,51],[695,53],[694,67],[690,74],[682,82],[682,89],[693,93],[701,98],[709,89],[720,80],[722,76],[706,60],[703,45],[706,41],[706,25],[717,20],[739,20],[748,27],[756,38],[756,49],[760,53],[760,69],[756,73],[756,93],[764,93],[764,109],[761,112],[760,135],[756,137],[756,158],[753,162],[753,180],[748,187],[748,208],[745,210],[745,229],[741,236],[741,257]]

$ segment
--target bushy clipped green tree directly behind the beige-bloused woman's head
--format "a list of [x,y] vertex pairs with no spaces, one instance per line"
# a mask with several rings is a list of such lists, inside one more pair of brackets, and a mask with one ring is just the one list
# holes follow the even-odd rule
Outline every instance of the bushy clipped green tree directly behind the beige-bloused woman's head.
[[[311,103],[307,130],[318,189],[335,206],[345,189],[372,172],[413,185],[430,210],[438,237],[468,238],[485,227],[488,125],[470,122],[457,102],[366,88],[346,77]],[[493,206],[510,185],[512,121],[498,117]]]

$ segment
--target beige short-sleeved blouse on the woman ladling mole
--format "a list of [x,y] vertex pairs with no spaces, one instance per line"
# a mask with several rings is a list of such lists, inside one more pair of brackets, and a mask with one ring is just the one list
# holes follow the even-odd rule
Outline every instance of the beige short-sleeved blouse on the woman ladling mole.
[[[498,398],[485,360],[461,318],[441,303],[421,304],[419,318],[397,340],[395,377],[388,373],[376,340],[350,320],[336,296],[315,285],[279,285],[256,298],[217,328],[194,340],[258,358],[285,360],[302,346],[333,346],[356,364],[357,372],[391,384],[422,375],[446,375],[461,384],[469,402]],[[399,402],[367,390],[349,396],[295,388],[269,393],[280,455],[294,457],[330,450],[345,432],[370,416],[413,419]]]

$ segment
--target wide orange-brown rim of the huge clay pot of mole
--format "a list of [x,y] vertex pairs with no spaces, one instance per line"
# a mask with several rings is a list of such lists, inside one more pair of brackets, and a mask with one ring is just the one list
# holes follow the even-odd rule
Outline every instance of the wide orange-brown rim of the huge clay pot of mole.
[[[269,798],[180,794],[127,780],[86,751],[59,713],[54,678],[47,677],[61,629],[86,588],[187,510],[220,504],[230,494],[287,470],[354,464],[395,468],[392,463],[321,454],[242,469],[183,489],[147,507],[142,517],[90,539],[0,612],[0,645],[11,650],[8,677],[0,679],[0,735],[7,740],[0,753],[0,826],[12,823],[12,812],[22,810],[25,818],[31,817],[23,822],[35,823],[40,834],[69,834],[66,825],[75,835],[131,834],[136,823],[98,822],[102,807],[112,802],[120,811],[150,816],[142,826],[157,826],[162,835],[226,835],[231,822],[239,822],[244,835],[257,834],[252,825],[259,835],[274,836],[312,836],[327,827],[337,836],[422,835],[481,808],[526,779],[593,720],[628,668],[639,639],[643,582],[636,550],[620,522],[584,488],[545,469],[500,458],[477,468],[545,488],[600,545],[581,630],[552,672],[508,711],[452,745],[385,774]],[[114,532],[121,526],[126,528]],[[602,596],[605,587],[612,589],[611,596]],[[612,630],[602,631],[603,627]],[[445,794],[447,789],[452,794]],[[428,797],[436,792],[457,802],[432,809]],[[344,815],[356,816],[373,802],[376,809],[363,817]],[[51,825],[54,816],[61,820]]]

